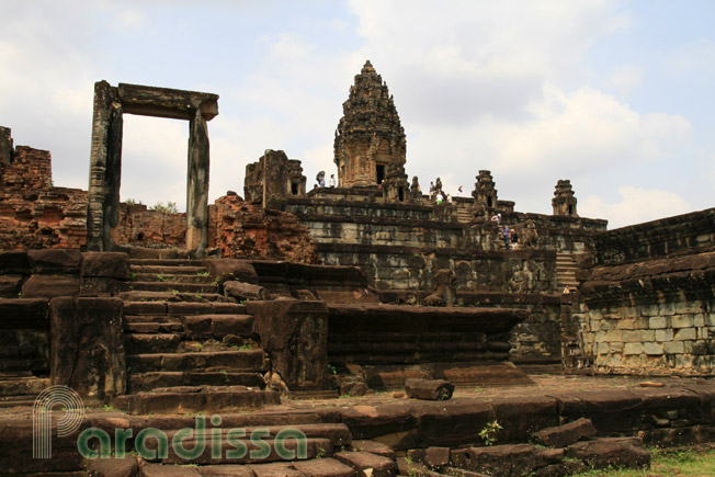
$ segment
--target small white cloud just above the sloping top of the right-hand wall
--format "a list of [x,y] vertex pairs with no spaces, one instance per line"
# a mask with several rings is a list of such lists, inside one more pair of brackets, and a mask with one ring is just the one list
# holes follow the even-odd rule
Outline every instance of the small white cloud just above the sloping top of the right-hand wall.
[[692,206],[678,194],[659,189],[618,188],[620,201],[606,203],[597,195],[579,201],[578,213],[585,217],[609,219],[609,228],[618,228],[657,218],[670,217],[692,211]]

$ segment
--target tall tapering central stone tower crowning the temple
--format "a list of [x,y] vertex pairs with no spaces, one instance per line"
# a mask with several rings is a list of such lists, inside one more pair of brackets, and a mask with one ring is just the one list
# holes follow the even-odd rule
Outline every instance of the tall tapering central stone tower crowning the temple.
[[387,84],[365,61],[336,130],[334,161],[341,188],[376,186],[405,172],[407,141]]

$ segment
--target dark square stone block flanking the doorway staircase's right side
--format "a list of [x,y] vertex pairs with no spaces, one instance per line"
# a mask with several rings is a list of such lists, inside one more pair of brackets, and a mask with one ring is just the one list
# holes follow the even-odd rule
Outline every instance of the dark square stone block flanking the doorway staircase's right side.
[[249,302],[253,330],[290,390],[328,389],[328,307],[325,302]]

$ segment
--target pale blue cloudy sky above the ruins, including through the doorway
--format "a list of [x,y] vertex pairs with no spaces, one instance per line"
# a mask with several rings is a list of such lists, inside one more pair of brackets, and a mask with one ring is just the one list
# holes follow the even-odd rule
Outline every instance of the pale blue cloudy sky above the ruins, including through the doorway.
[[[551,213],[570,179],[610,227],[715,206],[712,1],[3,1],[0,125],[87,189],[94,81],[219,94],[211,198],[264,149],[334,171],[365,59],[407,134],[407,172],[447,192],[489,169]],[[123,198],[185,201],[188,125],[125,115]]]

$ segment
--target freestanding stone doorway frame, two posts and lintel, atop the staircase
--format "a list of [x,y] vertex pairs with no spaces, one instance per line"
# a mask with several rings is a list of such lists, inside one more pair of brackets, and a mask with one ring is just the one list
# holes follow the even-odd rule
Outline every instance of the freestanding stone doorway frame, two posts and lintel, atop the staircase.
[[186,250],[201,258],[208,245],[208,126],[218,94],[120,83],[94,83],[87,248],[116,251],[122,179],[123,114],[189,121]]

